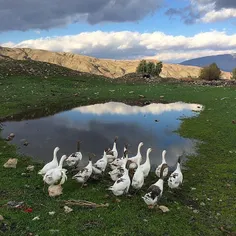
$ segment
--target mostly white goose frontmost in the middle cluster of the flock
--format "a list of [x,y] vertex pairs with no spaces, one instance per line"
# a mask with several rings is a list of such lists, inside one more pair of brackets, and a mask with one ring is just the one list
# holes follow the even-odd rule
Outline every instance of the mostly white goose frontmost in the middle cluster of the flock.
[[111,190],[115,196],[126,194],[129,191],[131,182],[129,177],[129,171],[126,168],[124,168],[123,171],[123,176],[118,178],[116,182],[110,188],[108,188],[108,190]]

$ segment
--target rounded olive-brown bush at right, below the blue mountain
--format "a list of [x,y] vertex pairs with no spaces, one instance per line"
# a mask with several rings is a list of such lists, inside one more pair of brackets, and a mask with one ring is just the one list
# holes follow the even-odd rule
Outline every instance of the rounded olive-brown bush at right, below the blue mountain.
[[212,63],[211,65],[202,68],[199,78],[203,80],[219,80],[220,75],[220,68],[216,63]]

